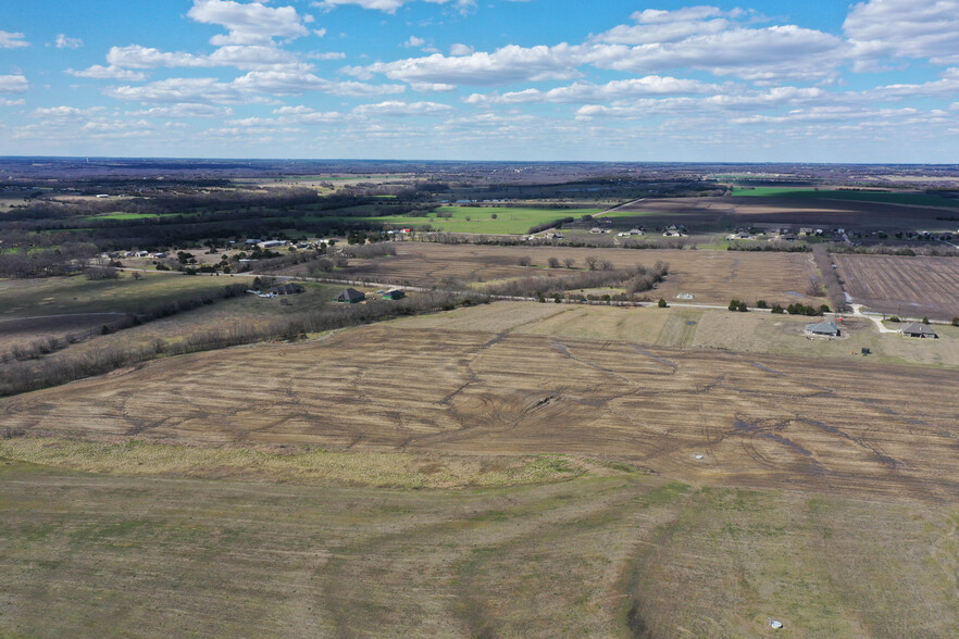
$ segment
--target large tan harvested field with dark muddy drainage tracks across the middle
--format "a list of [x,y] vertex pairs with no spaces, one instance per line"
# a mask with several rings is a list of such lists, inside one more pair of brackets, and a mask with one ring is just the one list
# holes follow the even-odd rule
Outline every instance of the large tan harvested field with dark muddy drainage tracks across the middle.
[[561,452],[708,484],[933,500],[959,489],[957,412],[955,369],[391,325],[0,401],[5,426],[36,434]]

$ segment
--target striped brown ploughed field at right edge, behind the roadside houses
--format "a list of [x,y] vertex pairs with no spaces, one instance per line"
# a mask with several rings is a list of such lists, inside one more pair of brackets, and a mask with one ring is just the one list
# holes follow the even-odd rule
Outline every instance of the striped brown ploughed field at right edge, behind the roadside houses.
[[959,315],[959,260],[833,255],[843,289],[870,310],[906,317]]

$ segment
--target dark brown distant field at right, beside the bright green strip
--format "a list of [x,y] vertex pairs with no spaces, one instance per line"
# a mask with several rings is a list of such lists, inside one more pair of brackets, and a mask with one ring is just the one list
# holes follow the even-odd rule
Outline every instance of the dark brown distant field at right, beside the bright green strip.
[[[959,205],[957,200],[947,201]],[[752,225],[842,227],[865,231],[956,229],[956,222],[936,220],[952,215],[955,210],[933,208],[920,202],[924,200],[917,202],[918,205],[907,205],[857,199],[786,196],[647,199],[618,211],[636,211],[635,218],[621,217],[618,224],[645,224],[647,227],[685,224],[694,231],[719,231]]]

